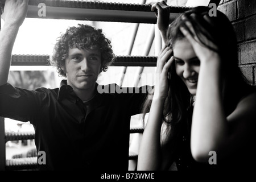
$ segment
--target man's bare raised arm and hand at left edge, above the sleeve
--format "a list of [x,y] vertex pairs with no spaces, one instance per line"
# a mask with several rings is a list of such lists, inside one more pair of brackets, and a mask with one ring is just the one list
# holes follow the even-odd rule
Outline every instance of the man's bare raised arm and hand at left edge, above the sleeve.
[[6,84],[11,65],[11,52],[19,27],[27,16],[28,0],[6,0],[0,31],[0,85]]

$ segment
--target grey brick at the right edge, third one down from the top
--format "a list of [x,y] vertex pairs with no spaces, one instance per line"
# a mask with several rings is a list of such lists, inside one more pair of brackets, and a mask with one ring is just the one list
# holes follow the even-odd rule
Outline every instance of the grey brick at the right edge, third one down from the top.
[[241,64],[256,63],[256,42],[246,42],[240,44],[238,56]]

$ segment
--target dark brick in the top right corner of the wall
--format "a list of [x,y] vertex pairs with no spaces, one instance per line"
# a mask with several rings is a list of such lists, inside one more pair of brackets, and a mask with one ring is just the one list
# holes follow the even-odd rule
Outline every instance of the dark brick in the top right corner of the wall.
[[238,19],[256,14],[255,0],[238,0]]

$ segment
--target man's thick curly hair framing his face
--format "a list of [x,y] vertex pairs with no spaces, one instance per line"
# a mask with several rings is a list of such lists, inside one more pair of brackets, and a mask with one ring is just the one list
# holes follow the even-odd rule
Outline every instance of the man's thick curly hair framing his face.
[[66,77],[61,65],[65,65],[69,48],[98,49],[101,52],[100,72],[105,72],[115,58],[110,43],[110,40],[102,33],[102,29],[96,29],[87,24],[78,24],[77,27],[69,27],[65,34],[57,38],[49,63],[56,67],[60,76]]

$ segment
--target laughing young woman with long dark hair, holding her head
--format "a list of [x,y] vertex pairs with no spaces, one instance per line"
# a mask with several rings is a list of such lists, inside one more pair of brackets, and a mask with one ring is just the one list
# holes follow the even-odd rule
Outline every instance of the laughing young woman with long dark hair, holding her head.
[[[181,14],[164,31],[165,3],[156,3],[166,47],[158,56],[154,97],[139,149],[138,170],[250,169],[255,164],[256,92],[238,67],[229,19],[208,7]],[[152,96],[151,96],[152,97]]]

